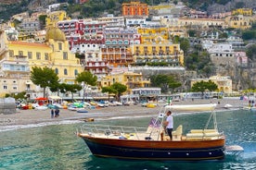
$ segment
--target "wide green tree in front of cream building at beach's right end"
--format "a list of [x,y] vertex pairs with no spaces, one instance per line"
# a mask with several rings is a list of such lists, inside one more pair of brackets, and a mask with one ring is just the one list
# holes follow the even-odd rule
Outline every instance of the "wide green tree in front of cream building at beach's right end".
[[211,80],[209,81],[198,81],[196,83],[193,84],[191,91],[194,92],[201,92],[202,93],[202,97],[203,94],[206,90],[208,91],[216,91],[218,89],[217,84],[215,84],[214,82],[212,82]]

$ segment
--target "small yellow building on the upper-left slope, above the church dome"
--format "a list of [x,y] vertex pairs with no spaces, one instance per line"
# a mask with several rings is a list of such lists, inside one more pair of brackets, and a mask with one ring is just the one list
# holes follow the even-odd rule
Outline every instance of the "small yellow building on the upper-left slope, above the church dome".
[[67,16],[67,12],[66,11],[54,11],[51,12],[47,15],[47,17],[45,18],[45,27],[57,27],[57,23],[60,20],[68,20],[70,19]]

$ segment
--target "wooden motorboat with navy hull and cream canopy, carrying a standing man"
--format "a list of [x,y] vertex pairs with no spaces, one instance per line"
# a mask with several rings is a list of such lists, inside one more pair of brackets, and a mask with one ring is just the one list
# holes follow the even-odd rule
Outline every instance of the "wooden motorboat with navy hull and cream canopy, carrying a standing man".
[[[147,128],[103,126],[86,123],[79,130],[90,151],[99,157],[111,157],[134,160],[214,160],[224,158],[225,138],[219,132],[216,104],[167,105],[160,109],[156,118],[152,118]],[[165,113],[168,110],[211,111],[211,116],[202,129],[191,129],[183,134],[180,125],[173,131],[173,140],[168,140],[162,128]],[[211,123],[214,128],[208,129]]]

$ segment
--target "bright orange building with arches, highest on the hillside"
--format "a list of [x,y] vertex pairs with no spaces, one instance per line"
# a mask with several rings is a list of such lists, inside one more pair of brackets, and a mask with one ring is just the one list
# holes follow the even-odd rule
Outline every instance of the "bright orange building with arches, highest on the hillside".
[[148,7],[146,3],[132,1],[130,3],[122,3],[122,16],[143,16],[148,17]]

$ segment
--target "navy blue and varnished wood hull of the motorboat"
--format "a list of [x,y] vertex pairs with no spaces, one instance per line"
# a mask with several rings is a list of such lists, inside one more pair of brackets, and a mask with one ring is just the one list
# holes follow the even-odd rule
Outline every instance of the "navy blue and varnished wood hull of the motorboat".
[[224,139],[201,141],[111,140],[81,136],[100,157],[134,160],[215,160],[224,158]]

